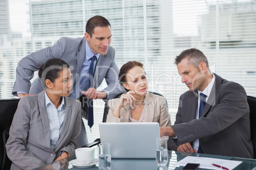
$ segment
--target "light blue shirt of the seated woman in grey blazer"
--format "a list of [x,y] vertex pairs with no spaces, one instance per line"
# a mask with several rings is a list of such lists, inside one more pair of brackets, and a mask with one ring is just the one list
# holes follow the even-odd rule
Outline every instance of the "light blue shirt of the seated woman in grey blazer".
[[59,134],[63,126],[65,117],[65,105],[64,97],[58,108],[53,105],[50,98],[45,92],[45,107],[48,114],[49,124],[50,124],[50,147],[53,149],[59,140]]

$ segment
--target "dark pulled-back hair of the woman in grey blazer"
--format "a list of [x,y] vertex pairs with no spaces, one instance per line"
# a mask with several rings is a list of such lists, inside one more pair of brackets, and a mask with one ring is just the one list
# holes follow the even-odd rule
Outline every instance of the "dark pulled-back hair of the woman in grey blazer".
[[55,79],[59,77],[59,72],[66,68],[69,68],[69,64],[60,58],[52,58],[43,63],[38,71],[38,76],[41,78],[43,88],[47,88],[45,84],[46,79],[55,82]]

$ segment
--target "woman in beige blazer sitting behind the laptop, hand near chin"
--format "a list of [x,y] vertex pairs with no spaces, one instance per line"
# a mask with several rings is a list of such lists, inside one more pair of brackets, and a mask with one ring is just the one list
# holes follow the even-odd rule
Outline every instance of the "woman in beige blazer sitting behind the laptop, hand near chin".
[[110,110],[107,122],[159,122],[159,126],[171,125],[165,98],[148,93],[148,79],[142,63],[125,63],[120,69],[119,82],[127,93],[108,101]]

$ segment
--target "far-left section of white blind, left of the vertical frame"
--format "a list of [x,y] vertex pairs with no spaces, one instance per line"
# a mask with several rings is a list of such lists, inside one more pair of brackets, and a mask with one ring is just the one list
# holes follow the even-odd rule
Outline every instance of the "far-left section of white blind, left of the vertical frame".
[[28,9],[25,1],[0,3],[0,98],[13,98],[11,89],[18,61],[31,53],[31,39],[25,36],[29,32]]

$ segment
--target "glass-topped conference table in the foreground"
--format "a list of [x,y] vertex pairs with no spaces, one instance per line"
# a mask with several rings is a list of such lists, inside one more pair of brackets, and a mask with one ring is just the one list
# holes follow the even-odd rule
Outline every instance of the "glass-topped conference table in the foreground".
[[[236,148],[234,148],[236,149]],[[174,165],[179,160],[187,157],[208,157],[208,158],[216,158],[216,159],[223,159],[223,160],[238,160],[242,161],[241,164],[236,166],[234,169],[256,169],[256,159],[245,159],[239,157],[226,157],[220,155],[208,155],[208,154],[190,154],[190,153],[183,153],[177,151],[168,151],[169,154],[169,161],[166,167],[159,167],[155,162],[155,159],[112,159],[111,160],[111,170],[167,170],[167,169],[183,169],[183,166],[176,166]],[[52,164],[48,164],[43,167],[36,168],[37,170],[58,170],[58,169],[87,169],[87,170],[97,170],[99,169],[98,163],[90,167],[81,167],[81,166],[72,166],[69,164],[71,160],[75,160],[75,156],[68,157],[66,159],[59,160],[57,162],[53,162]],[[202,168],[199,168],[202,169]],[[222,168],[219,168],[222,170]]]

